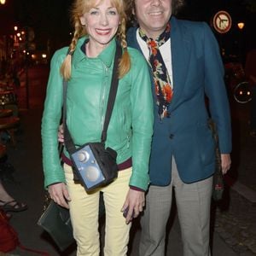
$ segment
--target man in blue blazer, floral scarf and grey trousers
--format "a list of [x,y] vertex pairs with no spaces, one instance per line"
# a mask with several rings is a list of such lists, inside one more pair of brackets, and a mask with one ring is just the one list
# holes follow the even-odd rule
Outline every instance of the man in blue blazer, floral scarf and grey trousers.
[[230,169],[230,109],[218,44],[206,23],[172,16],[180,4],[176,0],[131,0],[138,27],[130,28],[127,41],[148,60],[155,102],[141,256],[165,255],[173,188],[183,255],[210,255],[215,155],[205,95],[218,127],[223,173]]

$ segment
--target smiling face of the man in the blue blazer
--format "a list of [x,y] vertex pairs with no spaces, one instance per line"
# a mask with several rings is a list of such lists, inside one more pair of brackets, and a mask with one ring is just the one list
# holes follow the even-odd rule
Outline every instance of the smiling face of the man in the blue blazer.
[[146,35],[157,38],[171,18],[172,0],[135,0],[135,15]]

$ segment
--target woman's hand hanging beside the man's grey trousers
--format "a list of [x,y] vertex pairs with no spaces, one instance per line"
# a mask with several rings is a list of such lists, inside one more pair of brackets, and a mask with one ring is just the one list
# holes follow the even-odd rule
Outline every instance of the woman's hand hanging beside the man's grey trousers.
[[140,212],[143,212],[144,206],[145,192],[129,189],[128,194],[126,195],[124,206],[121,209],[121,212],[127,211],[127,214],[125,214],[125,223],[129,224],[132,218],[137,218]]

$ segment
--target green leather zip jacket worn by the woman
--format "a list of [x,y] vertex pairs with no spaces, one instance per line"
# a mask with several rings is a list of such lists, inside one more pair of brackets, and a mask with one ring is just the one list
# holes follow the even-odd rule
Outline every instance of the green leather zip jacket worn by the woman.
[[[67,85],[67,126],[76,145],[100,142],[113,71],[115,40],[96,58],[84,55],[80,38],[72,59],[72,78]],[[131,70],[119,80],[119,88],[108,125],[106,147],[118,153],[117,163],[132,157],[130,185],[147,189],[148,159],[153,135],[153,98],[148,65],[137,49],[128,48]],[[57,131],[61,121],[61,63],[67,47],[51,60],[42,119],[44,185],[65,183],[59,160]],[[67,151],[64,151],[68,156]]]

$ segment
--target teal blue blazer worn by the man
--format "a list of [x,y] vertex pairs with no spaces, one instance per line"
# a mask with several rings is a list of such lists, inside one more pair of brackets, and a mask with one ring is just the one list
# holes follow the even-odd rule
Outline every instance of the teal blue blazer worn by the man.
[[[209,116],[218,128],[222,154],[231,151],[230,106],[218,42],[205,22],[172,17],[171,49],[173,98],[170,118],[160,121],[154,106],[154,137],[150,156],[150,183],[166,186],[172,178],[172,156],[184,183],[212,176],[214,141]],[[127,32],[129,46],[140,49],[136,27]],[[152,90],[154,84],[152,81]],[[206,106],[207,96],[207,106]],[[154,99],[155,102],[155,99]]]

